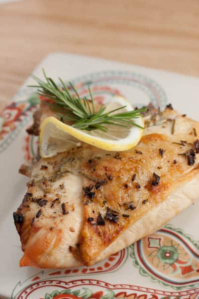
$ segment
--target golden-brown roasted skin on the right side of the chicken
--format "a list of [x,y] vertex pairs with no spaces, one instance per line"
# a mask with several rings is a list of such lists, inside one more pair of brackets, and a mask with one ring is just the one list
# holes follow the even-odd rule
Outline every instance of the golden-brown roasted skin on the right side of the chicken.
[[[181,148],[192,146],[180,147],[171,137],[155,133],[144,136],[135,149],[84,163],[83,172],[101,181],[83,181],[85,220],[80,252],[84,264],[95,263],[123,230],[165,200],[181,182],[199,173],[199,168],[191,170],[186,157],[179,155]],[[99,215],[104,221],[100,224]]]

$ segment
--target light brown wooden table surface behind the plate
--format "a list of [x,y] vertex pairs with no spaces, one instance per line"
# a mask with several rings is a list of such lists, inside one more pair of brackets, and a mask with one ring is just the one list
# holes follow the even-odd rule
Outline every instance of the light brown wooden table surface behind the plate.
[[199,0],[26,0],[0,5],[0,108],[53,51],[199,76]]

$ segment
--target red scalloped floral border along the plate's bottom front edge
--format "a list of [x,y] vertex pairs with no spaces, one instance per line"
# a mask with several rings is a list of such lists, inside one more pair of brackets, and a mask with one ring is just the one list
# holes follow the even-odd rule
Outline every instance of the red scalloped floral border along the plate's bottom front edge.
[[[45,291],[49,287],[54,288],[50,294]],[[100,280],[44,280],[28,286],[12,299],[36,299],[37,294],[43,294],[39,299],[197,299],[199,289],[168,292],[133,285],[111,285]]]

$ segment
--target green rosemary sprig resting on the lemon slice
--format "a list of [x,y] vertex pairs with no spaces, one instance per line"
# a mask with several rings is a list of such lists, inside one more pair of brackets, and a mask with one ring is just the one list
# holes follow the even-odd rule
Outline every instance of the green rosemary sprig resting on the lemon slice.
[[62,120],[72,122],[72,127],[80,130],[100,130],[103,132],[108,130],[106,125],[120,127],[137,126],[144,129],[134,123],[133,119],[139,118],[140,113],[146,111],[146,108],[115,113],[126,107],[123,106],[104,113],[106,107],[101,106],[99,111],[96,111],[90,88],[91,100],[87,97],[81,99],[71,82],[69,82],[69,85],[73,93],[71,93],[61,78],[59,78],[60,88],[52,78],[46,76],[44,70],[43,74],[46,81],[32,76],[38,85],[30,85],[29,87],[36,87],[39,95],[51,99],[52,103],[48,103],[48,105],[51,105],[52,110],[59,112],[58,115]]

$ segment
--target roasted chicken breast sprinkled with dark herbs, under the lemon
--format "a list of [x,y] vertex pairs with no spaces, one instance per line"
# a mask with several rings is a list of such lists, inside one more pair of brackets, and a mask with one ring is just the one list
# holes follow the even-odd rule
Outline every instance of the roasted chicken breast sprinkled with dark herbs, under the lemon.
[[14,213],[20,266],[93,265],[199,197],[199,123],[171,106],[147,122],[140,143],[128,151],[82,144],[21,166],[30,180]]

